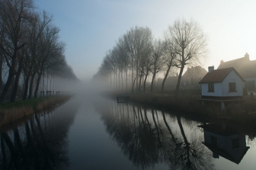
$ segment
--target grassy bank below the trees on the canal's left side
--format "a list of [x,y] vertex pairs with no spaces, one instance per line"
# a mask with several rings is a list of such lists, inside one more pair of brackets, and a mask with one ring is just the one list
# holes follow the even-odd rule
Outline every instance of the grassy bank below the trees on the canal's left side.
[[71,98],[70,95],[52,96],[7,102],[0,105],[0,126],[18,120],[43,109],[55,107]]

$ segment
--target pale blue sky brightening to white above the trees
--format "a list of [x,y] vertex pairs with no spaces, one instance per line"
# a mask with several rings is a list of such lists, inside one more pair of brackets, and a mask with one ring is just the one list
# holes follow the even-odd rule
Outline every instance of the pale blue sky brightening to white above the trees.
[[163,38],[178,18],[193,19],[207,34],[206,70],[246,52],[256,60],[255,0],[35,0],[35,5],[54,16],[66,43],[66,60],[80,80],[97,72],[105,52],[130,27],[147,26],[155,38]]

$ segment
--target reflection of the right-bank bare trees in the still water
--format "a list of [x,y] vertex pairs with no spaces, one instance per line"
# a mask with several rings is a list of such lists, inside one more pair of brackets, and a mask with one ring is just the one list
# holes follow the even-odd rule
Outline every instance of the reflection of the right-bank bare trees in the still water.
[[214,169],[211,152],[201,143],[203,134],[190,129],[191,121],[128,104],[112,102],[111,108],[101,110],[102,121],[133,165],[141,169],[158,163],[168,164],[169,169]]

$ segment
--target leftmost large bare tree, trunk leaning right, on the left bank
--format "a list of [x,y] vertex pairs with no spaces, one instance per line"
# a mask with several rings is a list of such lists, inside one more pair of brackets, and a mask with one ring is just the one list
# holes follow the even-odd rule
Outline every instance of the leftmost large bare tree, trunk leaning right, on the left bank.
[[4,90],[0,95],[0,103],[4,103],[7,92],[13,83],[16,74],[18,51],[25,46],[24,41],[22,41],[24,32],[26,32],[24,24],[26,24],[29,10],[34,7],[33,5],[31,0],[0,1],[0,20],[5,24],[5,42],[0,44],[0,48],[4,52],[5,61],[9,67],[9,75]]

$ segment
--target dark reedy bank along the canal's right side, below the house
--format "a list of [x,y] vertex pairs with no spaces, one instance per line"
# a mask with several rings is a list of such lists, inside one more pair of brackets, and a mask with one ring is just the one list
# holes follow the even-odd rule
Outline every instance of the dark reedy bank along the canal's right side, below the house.
[[[118,93],[108,94],[116,97]],[[200,94],[128,94],[130,101],[148,106],[154,106],[168,110],[182,110],[193,116],[204,116],[220,120],[238,121],[256,126],[256,100],[247,99],[240,102],[225,103],[225,110],[221,110],[219,102],[205,102],[202,106]]]

